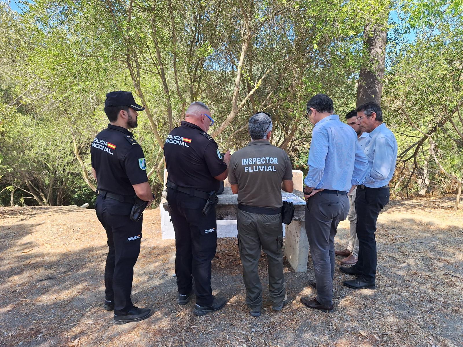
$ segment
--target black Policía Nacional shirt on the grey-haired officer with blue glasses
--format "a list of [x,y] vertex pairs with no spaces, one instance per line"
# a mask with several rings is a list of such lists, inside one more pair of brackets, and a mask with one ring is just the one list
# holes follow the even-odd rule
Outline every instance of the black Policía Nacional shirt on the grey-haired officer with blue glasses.
[[219,181],[227,165],[212,136],[199,126],[182,121],[164,143],[164,157],[169,181],[177,186],[217,192]]

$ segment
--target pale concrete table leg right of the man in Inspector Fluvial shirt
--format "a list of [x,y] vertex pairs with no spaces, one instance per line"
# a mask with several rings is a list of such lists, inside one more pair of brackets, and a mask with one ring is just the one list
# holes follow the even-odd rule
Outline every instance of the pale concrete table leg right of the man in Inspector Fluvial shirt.
[[292,221],[285,226],[285,255],[297,273],[307,272],[309,242],[304,222]]

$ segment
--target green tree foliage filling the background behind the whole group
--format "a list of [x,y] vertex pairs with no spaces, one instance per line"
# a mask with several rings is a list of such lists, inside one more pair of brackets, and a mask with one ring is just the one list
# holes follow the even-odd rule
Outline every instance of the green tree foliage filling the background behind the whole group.
[[[358,71],[368,63],[364,28],[384,25],[391,9],[404,20],[391,31],[419,32],[412,43],[390,43],[397,49],[383,93],[388,124],[404,150],[422,136],[410,122],[428,131],[439,112],[453,111],[462,99],[461,1],[37,0],[21,15],[2,3],[0,191],[13,187],[13,204],[91,203],[83,173],[91,171],[89,145],[106,127],[102,105],[111,90],[131,90],[146,107],[134,133],[158,197],[163,141],[195,100],[211,107],[212,131],[226,125],[216,136],[222,150],[249,141],[251,114],[273,114],[272,143],[306,172],[307,100],[327,93],[341,117],[355,106]],[[440,158],[459,153],[451,140],[457,136],[450,121],[439,128]],[[440,184],[429,145],[420,149],[418,171],[426,161],[428,180]],[[442,161],[449,170],[453,162]],[[418,190],[418,179],[408,186]],[[3,190],[0,202],[10,204],[11,192]]]

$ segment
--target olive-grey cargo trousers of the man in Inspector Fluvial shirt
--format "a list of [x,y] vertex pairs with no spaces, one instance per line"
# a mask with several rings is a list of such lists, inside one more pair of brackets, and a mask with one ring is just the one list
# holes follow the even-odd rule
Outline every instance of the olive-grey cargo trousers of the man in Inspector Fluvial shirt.
[[280,306],[286,295],[283,276],[282,215],[261,215],[238,210],[238,248],[243,263],[246,304],[251,310],[262,307],[262,285],[257,271],[261,248],[267,254],[269,292],[273,306]]

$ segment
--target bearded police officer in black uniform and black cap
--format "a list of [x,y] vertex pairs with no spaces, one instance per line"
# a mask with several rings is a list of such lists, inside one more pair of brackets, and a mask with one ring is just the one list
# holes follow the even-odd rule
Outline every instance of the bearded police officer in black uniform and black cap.
[[133,306],[130,298],[143,223],[143,216],[132,220],[131,211],[136,196],[145,202],[153,200],[143,150],[128,130],[137,127],[137,111],[143,110],[131,92],[107,93],[105,113],[109,124],[90,148],[92,172],[98,181],[95,210],[109,246],[103,308],[114,310],[115,324],[138,322],[151,312],[149,308]]

